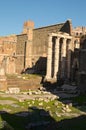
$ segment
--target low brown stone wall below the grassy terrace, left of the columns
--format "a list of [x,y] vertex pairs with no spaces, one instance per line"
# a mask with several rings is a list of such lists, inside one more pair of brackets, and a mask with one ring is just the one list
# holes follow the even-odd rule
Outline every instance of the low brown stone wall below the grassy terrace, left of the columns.
[[8,77],[7,78],[7,87],[10,88],[19,88],[20,90],[34,90],[38,89],[41,86],[41,76],[38,77],[22,77],[21,75],[18,77]]

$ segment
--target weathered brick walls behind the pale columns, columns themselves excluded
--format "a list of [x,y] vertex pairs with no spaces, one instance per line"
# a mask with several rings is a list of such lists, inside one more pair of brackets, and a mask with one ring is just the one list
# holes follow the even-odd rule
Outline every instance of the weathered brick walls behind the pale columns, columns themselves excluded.
[[[56,58],[54,56],[54,51],[56,49],[54,46],[55,38],[57,37],[57,35],[61,35],[62,38],[60,38],[60,44],[62,44],[64,36],[70,36],[71,45],[69,46],[70,39],[67,39],[67,54],[65,60],[66,68],[70,66],[71,69],[65,70],[67,73],[70,73],[70,76],[73,76],[72,67],[74,67],[74,64],[78,62],[78,57],[74,56],[75,50],[79,49],[80,36],[85,33],[86,28],[72,28],[72,23],[70,20],[67,20],[64,23],[36,29],[34,29],[33,21],[27,21],[24,23],[23,32],[20,35],[0,37],[0,65],[3,66],[3,68],[5,69],[5,73],[7,74],[21,73],[27,68],[33,68],[36,73],[46,74],[49,35],[56,35],[53,36],[52,41],[52,67],[55,64],[54,60]],[[70,50],[68,49],[68,47]],[[64,50],[64,46],[62,47],[62,50]],[[69,53],[71,53],[70,57]],[[60,56],[61,54],[62,52],[60,46]],[[59,62],[60,64],[62,64],[64,61]],[[64,66],[59,67],[60,71],[63,67]],[[55,68],[53,67],[53,71],[55,71],[54,69]],[[63,71],[61,71],[60,73],[63,73]]]

